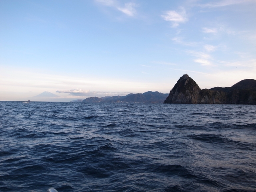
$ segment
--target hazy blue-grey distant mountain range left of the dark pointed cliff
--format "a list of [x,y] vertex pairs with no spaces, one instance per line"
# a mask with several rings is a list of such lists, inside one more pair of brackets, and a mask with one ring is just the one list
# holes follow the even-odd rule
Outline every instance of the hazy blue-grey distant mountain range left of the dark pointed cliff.
[[[168,93],[160,93],[158,91],[148,91],[145,93],[130,93],[126,96],[112,96],[112,97],[89,97],[83,100],[85,103],[163,103]],[[78,101],[79,102],[79,101]]]

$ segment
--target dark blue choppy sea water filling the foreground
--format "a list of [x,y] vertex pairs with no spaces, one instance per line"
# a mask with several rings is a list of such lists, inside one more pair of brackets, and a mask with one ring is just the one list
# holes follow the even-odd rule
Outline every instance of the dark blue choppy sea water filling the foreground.
[[256,191],[256,106],[0,102],[0,191]]

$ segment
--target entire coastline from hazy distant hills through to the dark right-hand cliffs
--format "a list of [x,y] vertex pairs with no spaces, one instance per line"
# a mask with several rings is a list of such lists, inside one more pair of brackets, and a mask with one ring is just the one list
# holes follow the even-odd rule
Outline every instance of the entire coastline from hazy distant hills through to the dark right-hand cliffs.
[[164,103],[164,104],[256,104],[256,80],[245,79],[231,87],[200,89],[184,74],[169,94],[148,91],[126,96],[89,97],[72,102],[84,103]]

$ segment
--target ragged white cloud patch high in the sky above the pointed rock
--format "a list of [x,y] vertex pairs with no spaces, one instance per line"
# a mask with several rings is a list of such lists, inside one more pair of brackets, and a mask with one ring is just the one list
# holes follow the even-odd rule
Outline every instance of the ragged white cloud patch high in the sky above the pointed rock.
[[166,11],[165,14],[161,16],[164,20],[172,22],[172,27],[176,27],[180,23],[184,23],[188,20],[184,8],[181,8],[181,12],[174,10]]

